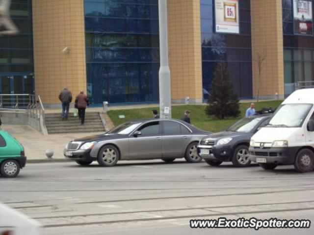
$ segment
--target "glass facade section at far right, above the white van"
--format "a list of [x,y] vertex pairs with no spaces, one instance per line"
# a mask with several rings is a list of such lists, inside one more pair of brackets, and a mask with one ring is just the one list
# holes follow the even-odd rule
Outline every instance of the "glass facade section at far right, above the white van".
[[[282,6],[285,95],[287,96],[294,91],[297,82],[314,85],[314,35],[295,35],[292,1],[282,0]],[[314,11],[314,1],[312,7]]]

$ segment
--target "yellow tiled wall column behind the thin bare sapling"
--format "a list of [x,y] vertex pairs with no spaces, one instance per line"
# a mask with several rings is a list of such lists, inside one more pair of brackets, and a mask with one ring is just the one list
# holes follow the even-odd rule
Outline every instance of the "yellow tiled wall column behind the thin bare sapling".
[[[284,96],[282,0],[251,0],[253,96]],[[259,79],[257,53],[265,54]]]

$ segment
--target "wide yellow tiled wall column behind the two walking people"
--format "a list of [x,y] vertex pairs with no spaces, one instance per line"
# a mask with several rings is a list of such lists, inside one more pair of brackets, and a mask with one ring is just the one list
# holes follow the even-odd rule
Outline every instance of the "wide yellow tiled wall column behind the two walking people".
[[86,93],[83,0],[32,0],[32,12],[36,95],[59,104],[64,87]]

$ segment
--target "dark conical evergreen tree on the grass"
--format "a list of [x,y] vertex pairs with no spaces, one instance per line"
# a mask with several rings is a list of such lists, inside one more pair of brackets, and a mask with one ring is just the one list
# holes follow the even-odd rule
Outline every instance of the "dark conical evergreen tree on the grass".
[[217,63],[205,112],[218,119],[237,117],[240,114],[239,99],[234,93],[234,86],[225,62]]

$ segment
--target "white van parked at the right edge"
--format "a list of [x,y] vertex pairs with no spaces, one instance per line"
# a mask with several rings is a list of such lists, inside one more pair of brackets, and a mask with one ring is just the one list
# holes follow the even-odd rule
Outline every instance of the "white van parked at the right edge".
[[252,136],[249,152],[266,170],[293,164],[298,172],[313,171],[314,88],[294,91]]

